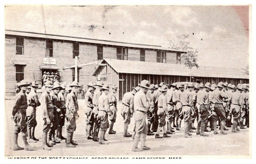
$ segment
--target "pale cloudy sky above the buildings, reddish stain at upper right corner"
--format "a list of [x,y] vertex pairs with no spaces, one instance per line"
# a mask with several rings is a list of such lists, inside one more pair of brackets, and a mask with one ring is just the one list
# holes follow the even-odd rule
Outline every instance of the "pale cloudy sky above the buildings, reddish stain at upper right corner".
[[5,29],[161,45],[188,34],[199,66],[249,63],[249,6],[5,6]]

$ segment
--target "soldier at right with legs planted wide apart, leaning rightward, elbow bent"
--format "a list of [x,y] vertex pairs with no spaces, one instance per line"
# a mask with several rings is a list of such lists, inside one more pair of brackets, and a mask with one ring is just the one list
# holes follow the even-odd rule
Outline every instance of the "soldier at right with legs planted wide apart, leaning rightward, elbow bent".
[[224,130],[224,125],[226,122],[226,113],[225,109],[223,107],[223,98],[227,99],[228,96],[223,90],[225,88],[223,82],[219,82],[218,85],[216,85],[217,88],[212,92],[212,105],[213,105],[213,128],[214,128],[214,134],[218,134],[217,132],[217,121],[218,117],[220,117],[220,134],[227,134]]

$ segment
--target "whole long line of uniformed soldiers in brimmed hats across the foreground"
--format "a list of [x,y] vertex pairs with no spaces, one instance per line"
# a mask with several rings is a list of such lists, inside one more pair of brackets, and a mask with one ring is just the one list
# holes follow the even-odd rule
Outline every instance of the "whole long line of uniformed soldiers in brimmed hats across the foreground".
[[[90,82],[87,86],[88,90],[84,96],[86,139],[99,144],[108,144],[108,140],[105,138],[107,129],[109,128],[108,134],[116,134],[113,127],[116,122],[118,87],[113,85],[109,92],[109,85],[104,84],[103,81]],[[41,106],[44,121],[42,148],[51,150],[51,147],[60,143],[61,140],[66,140],[67,147],[76,147],[78,144],[73,140],[76,120],[79,118],[76,92],[81,86],[75,81],[65,85],[58,81],[52,83],[48,80],[44,82],[44,92],[40,101],[36,94],[39,87],[38,82],[34,81],[30,84],[26,80],[22,80],[18,87],[20,92],[16,95],[12,110],[12,118],[15,122],[13,150],[36,149],[28,142],[38,141],[34,136],[37,124],[36,107],[38,106]],[[31,87],[31,91],[28,90],[28,87]],[[67,96],[64,94],[65,91],[68,91]],[[225,124],[227,127],[231,127],[232,124],[231,132],[238,132],[239,121],[240,129],[245,129],[244,119],[249,127],[249,88],[242,84],[238,84],[236,87],[227,82],[219,82],[218,85],[209,82],[205,85],[180,82],[172,83],[168,89],[164,82],[150,85],[149,81],[142,80],[138,87],[132,87],[131,92],[124,94],[121,115],[124,119],[123,136],[134,139],[132,151],[135,152],[150,149],[145,146],[146,135],[155,135],[155,138],[171,137],[168,134],[175,134],[173,130],[175,126],[176,130],[181,130],[182,119],[184,119],[183,131],[186,138],[190,138],[194,130],[196,130],[196,135],[209,136],[205,133],[209,132],[208,122],[210,122],[211,130],[214,131],[213,134],[218,134],[217,121],[220,126],[220,134],[227,134],[224,132],[224,130],[228,130],[225,128]],[[133,115],[135,125],[132,135],[128,133],[128,126]],[[231,123],[231,117],[233,117],[233,123]],[[195,120],[197,120],[197,128],[194,127]],[[67,138],[62,136],[65,121],[67,122]],[[160,136],[161,130],[164,133],[163,137]],[[21,133],[25,144],[24,148],[18,146],[19,133]],[[139,141],[141,141],[140,148],[138,148]]]

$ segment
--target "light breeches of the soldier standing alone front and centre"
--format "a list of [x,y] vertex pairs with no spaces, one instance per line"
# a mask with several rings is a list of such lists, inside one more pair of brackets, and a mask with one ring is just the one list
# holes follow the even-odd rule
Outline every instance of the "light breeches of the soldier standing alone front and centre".
[[136,121],[135,132],[136,135],[140,136],[140,134],[146,134],[148,131],[147,123],[146,123],[147,113],[136,110],[134,119]]

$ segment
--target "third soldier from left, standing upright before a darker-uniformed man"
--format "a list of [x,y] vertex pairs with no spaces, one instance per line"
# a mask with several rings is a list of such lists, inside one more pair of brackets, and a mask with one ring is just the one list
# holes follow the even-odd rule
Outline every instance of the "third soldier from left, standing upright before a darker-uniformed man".
[[51,82],[47,81],[44,83],[45,91],[41,95],[41,110],[43,112],[43,120],[44,120],[44,126],[43,126],[43,144],[42,148],[44,150],[51,150],[50,147],[55,144],[51,140],[49,140],[49,143],[47,142],[47,133],[50,130],[52,119],[53,119],[53,108],[54,105],[52,104],[50,92],[52,88]]

